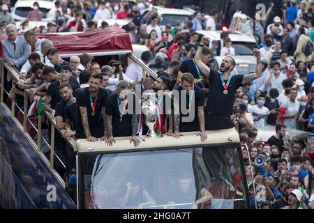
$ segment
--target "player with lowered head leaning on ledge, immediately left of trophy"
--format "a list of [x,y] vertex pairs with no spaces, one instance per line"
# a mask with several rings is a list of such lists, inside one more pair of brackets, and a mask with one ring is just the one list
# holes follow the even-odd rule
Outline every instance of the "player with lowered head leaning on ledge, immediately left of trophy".
[[[133,97],[133,100],[128,98]],[[133,110],[130,103],[133,103]],[[105,123],[107,127],[107,146],[112,146],[114,137],[129,137],[134,146],[140,144],[136,137],[137,114],[135,114],[135,95],[130,93],[130,84],[124,80],[117,84],[117,93],[107,98]]]

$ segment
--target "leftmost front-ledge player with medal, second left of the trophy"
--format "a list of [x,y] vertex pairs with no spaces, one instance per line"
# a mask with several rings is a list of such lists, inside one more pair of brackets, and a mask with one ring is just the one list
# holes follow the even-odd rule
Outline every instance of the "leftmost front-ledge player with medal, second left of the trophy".
[[77,116],[77,139],[105,140],[104,117],[108,92],[100,87],[101,82],[103,82],[101,75],[91,75],[89,87],[77,93],[77,105],[80,109]]

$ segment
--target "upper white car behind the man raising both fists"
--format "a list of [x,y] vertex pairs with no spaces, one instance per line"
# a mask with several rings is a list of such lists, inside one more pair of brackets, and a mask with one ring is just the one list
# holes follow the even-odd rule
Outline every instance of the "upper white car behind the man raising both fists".
[[[197,30],[197,33],[200,34],[199,38],[202,36],[208,36],[213,40],[220,40],[220,33],[222,31],[205,31],[205,30]],[[243,33],[234,32],[229,34],[229,38],[232,41],[232,47],[234,47],[236,55],[253,55],[253,49],[257,48],[257,43],[254,38],[251,38]],[[209,45],[211,47],[211,43]]]

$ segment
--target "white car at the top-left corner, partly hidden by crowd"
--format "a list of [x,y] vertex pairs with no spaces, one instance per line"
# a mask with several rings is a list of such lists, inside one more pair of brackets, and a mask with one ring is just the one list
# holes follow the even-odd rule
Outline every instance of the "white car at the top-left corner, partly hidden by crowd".
[[[24,21],[27,19],[27,14],[32,10],[33,3],[36,1],[33,0],[19,0],[15,3],[15,6],[12,10],[12,17],[15,21]],[[42,21],[50,22],[47,19],[47,13],[50,9],[54,7],[54,2],[52,1],[37,1],[39,4],[39,10],[43,13]]]

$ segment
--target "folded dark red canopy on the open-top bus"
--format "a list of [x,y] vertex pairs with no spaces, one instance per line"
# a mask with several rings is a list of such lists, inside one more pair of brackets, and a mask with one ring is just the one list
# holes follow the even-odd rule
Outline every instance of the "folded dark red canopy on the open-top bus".
[[[6,34],[0,34],[0,40],[5,40]],[[85,33],[47,33],[38,38],[52,40],[53,46],[59,49],[60,54],[83,54],[100,52],[133,52],[130,37],[124,29],[107,28]],[[1,59],[3,59],[2,44],[0,45]]]

